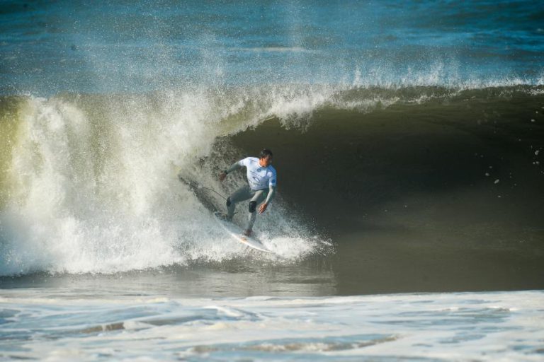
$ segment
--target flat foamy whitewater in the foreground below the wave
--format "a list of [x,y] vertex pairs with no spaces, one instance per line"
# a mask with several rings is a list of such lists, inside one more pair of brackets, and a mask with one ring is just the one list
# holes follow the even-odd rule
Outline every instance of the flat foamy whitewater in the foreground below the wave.
[[542,291],[329,298],[0,299],[4,358],[542,361]]

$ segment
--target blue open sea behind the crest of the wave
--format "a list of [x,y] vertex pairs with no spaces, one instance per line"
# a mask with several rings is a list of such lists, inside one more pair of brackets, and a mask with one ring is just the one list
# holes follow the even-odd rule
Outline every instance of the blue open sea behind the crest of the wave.
[[541,83],[540,1],[4,1],[0,93]]

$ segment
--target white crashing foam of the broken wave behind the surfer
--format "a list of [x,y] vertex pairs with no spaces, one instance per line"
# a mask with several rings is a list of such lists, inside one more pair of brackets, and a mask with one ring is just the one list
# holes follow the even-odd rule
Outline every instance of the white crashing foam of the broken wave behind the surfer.
[[[10,198],[1,212],[0,275],[115,273],[245,255],[176,173],[181,169],[221,190],[214,167],[236,160],[236,150],[208,167],[198,163],[212,153],[217,136],[275,112],[297,117],[308,110],[307,100],[274,93],[267,104],[248,109],[251,96],[225,100],[194,91],[111,100],[28,98],[8,170]],[[290,107],[281,112],[282,104]],[[258,221],[265,243],[280,259],[312,252],[314,238],[275,204]]]

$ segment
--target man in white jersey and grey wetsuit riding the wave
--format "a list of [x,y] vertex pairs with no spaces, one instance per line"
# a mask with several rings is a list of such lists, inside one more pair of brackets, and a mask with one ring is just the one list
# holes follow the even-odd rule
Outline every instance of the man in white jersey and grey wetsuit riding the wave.
[[[244,235],[249,236],[253,230],[253,224],[256,218],[256,207],[259,206],[259,214],[266,211],[268,204],[276,193],[276,169],[272,167],[272,151],[264,148],[259,154],[259,158],[246,157],[230,165],[227,170],[223,170],[219,175],[219,180],[225,180],[227,174],[242,167],[247,168],[247,182],[234,191],[227,198],[227,214],[225,220],[231,221],[234,215],[236,204],[246,199],[249,200],[249,214]],[[264,202],[263,202],[264,201]]]

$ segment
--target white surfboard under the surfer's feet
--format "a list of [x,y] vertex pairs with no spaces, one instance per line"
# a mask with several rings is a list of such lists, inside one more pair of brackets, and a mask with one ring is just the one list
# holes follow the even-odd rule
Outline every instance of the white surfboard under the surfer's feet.
[[243,233],[242,228],[237,226],[234,223],[231,223],[230,221],[222,220],[219,215],[221,214],[220,211],[217,210],[217,206],[213,204],[210,197],[206,194],[206,190],[208,188],[203,187],[202,185],[198,184],[198,182],[189,181],[186,180],[183,176],[178,175],[178,178],[181,182],[188,185],[189,189],[193,191],[198,201],[200,201],[203,206],[210,211],[210,213],[213,216],[213,219],[227,232],[228,235],[230,235],[234,240],[237,240],[239,243],[242,243],[246,246],[249,246],[253,249],[260,250],[261,252],[271,252],[272,250],[269,250],[266,246],[261,243],[261,241],[253,236],[246,236]]

